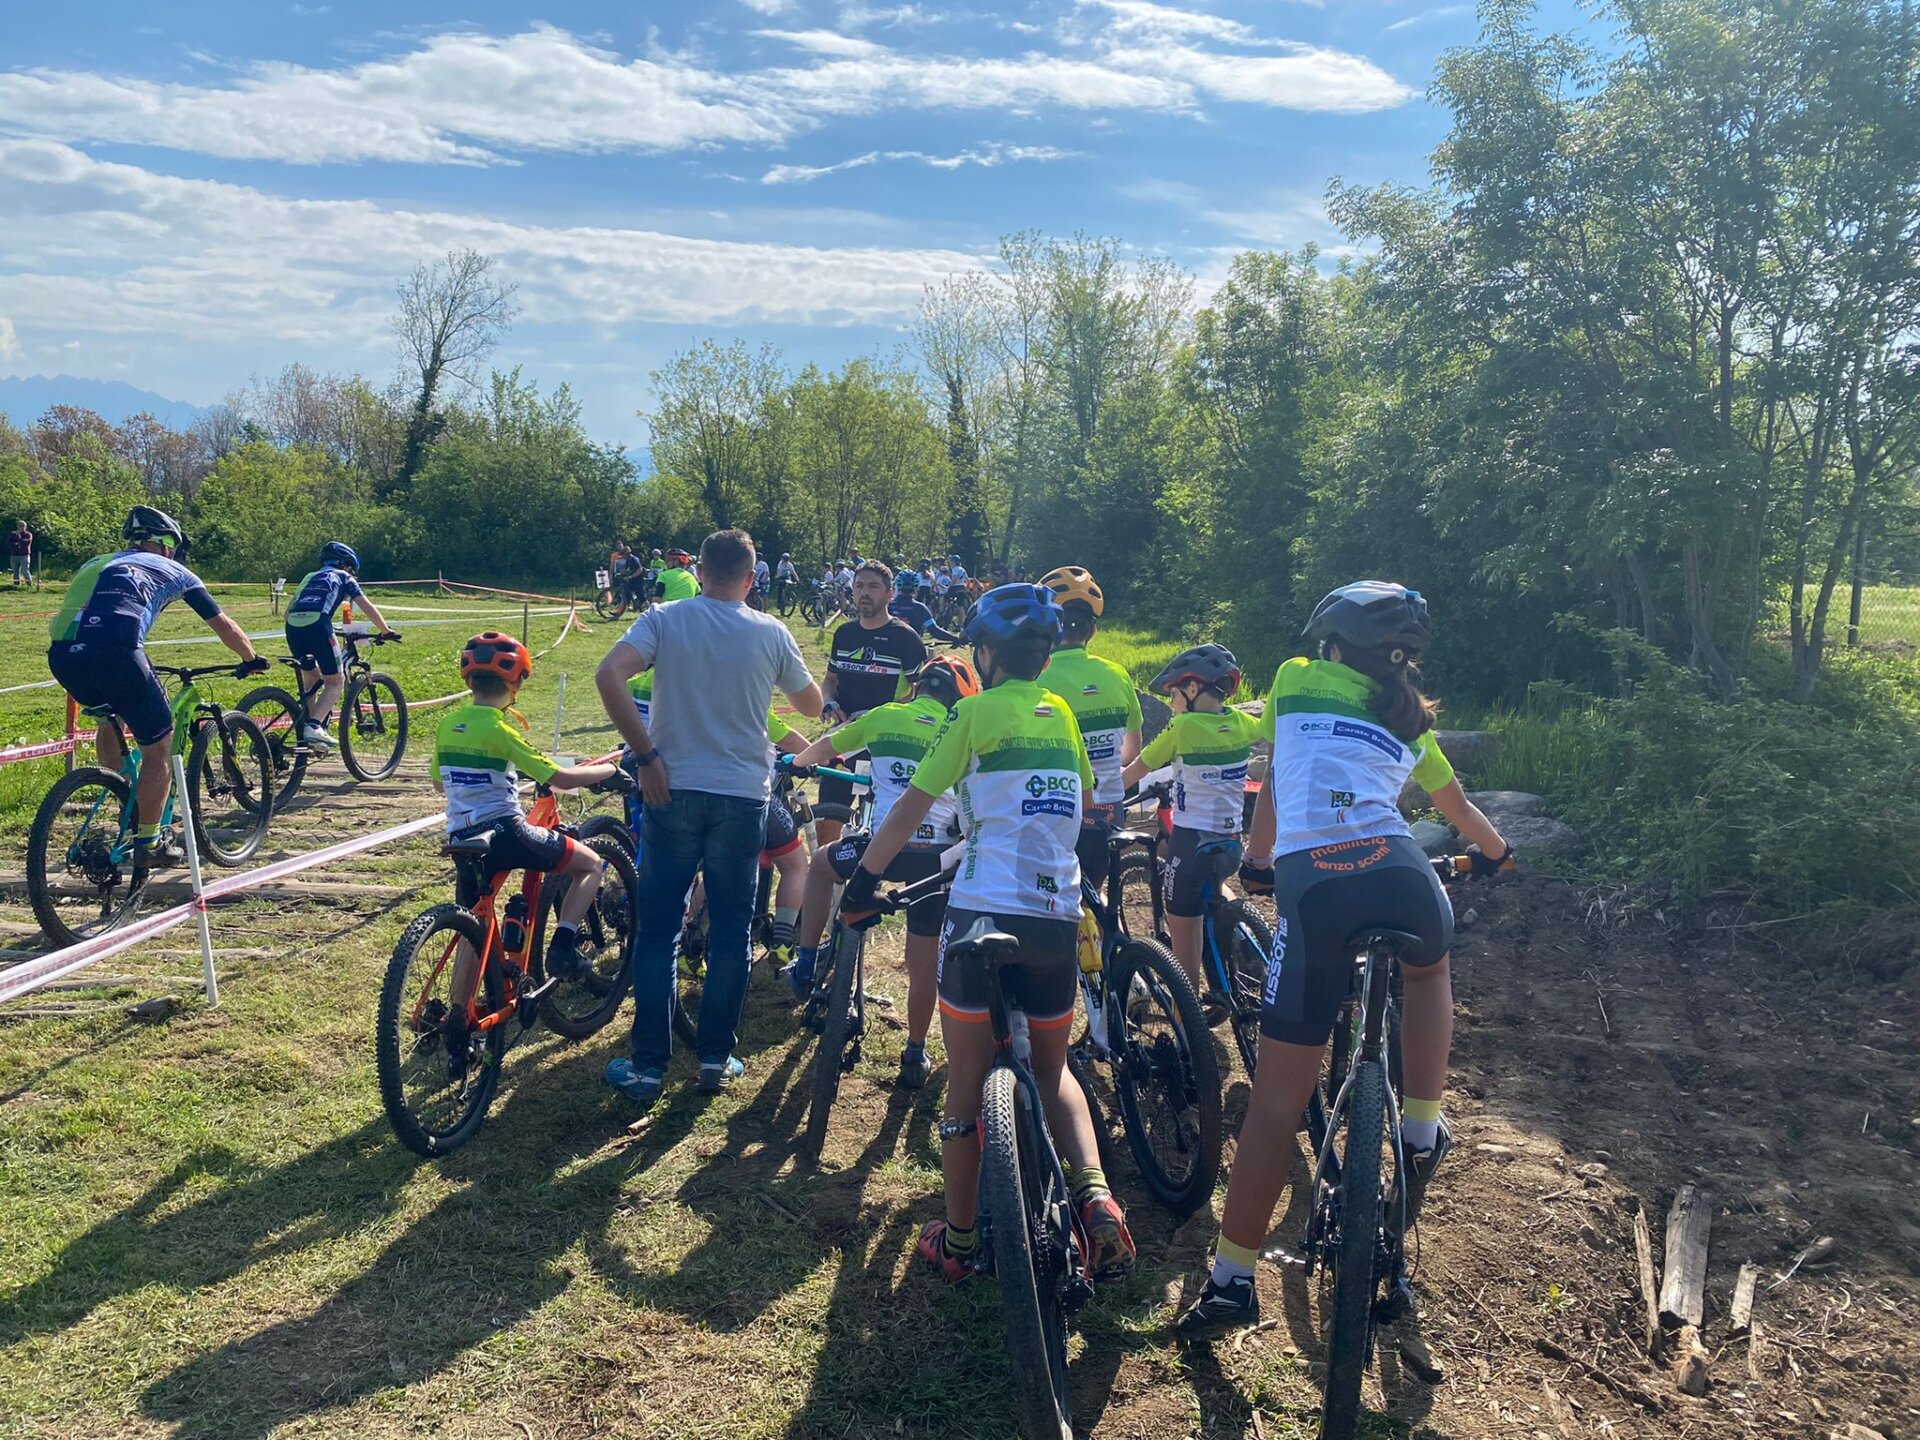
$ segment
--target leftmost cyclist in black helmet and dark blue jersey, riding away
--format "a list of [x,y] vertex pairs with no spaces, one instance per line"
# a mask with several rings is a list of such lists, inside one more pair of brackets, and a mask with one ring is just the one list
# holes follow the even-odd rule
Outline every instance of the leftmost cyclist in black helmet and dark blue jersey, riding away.
[[[173,781],[167,762],[173,755],[173,707],[146,659],[146,636],[173,601],[184,599],[221,643],[253,670],[267,662],[253,655],[253,641],[221,614],[200,576],[180,564],[186,536],[165,511],[134,505],[121,526],[127,549],[96,555],[67,586],[60,611],[48,622],[52,645],[46,668],[79,705],[106,705],[127,722],[140,747],[140,787],[134,791],[134,883],[156,864],[179,864],[186,852],[177,843],[161,845],[159,816],[167,808]],[[119,732],[100,726],[94,739],[100,764],[119,770]]]

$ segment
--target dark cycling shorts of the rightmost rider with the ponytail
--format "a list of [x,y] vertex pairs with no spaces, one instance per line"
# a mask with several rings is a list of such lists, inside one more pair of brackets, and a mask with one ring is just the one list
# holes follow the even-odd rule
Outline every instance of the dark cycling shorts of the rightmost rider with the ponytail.
[[1453,948],[1453,906],[1421,847],[1407,835],[1321,845],[1273,864],[1273,954],[1260,1033],[1288,1044],[1325,1044],[1354,975],[1348,941],[1380,927],[1421,937],[1400,956],[1438,964]]

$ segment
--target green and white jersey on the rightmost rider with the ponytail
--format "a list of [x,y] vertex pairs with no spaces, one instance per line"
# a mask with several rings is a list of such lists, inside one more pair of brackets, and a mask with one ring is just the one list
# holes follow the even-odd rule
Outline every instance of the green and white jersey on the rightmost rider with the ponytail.
[[1407,745],[1367,708],[1379,684],[1332,660],[1286,660],[1273,676],[1273,858],[1375,835],[1405,835],[1400,791],[1453,780],[1440,741]]

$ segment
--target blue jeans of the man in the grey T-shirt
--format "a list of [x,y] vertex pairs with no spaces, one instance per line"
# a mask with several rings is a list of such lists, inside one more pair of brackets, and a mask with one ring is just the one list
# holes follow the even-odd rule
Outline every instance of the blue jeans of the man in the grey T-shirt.
[[666,1069],[674,1054],[674,935],[699,870],[707,872],[707,987],[693,1048],[703,1066],[733,1054],[764,843],[766,801],[676,789],[666,804],[645,808],[634,941],[636,1069]]

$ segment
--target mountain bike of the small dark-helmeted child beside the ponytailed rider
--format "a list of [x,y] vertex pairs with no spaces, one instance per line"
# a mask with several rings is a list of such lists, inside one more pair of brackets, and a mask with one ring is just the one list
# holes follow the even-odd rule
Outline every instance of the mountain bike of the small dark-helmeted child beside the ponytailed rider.
[[[1139,795],[1142,801],[1160,801],[1162,835],[1171,831],[1169,793],[1169,787],[1160,783],[1146,785]],[[1137,924],[1146,922],[1154,939],[1167,943],[1165,868],[1160,858],[1160,837],[1152,839],[1139,860],[1129,856],[1123,876],[1125,902]],[[1267,956],[1273,954],[1273,929],[1246,899],[1221,889],[1221,877],[1238,868],[1240,841],[1225,835],[1206,841],[1198,858],[1206,866],[1206,883],[1200,891],[1202,998],[1210,1023],[1231,1021],[1240,1064],[1252,1077],[1260,1062],[1260,1010],[1267,983]]]

